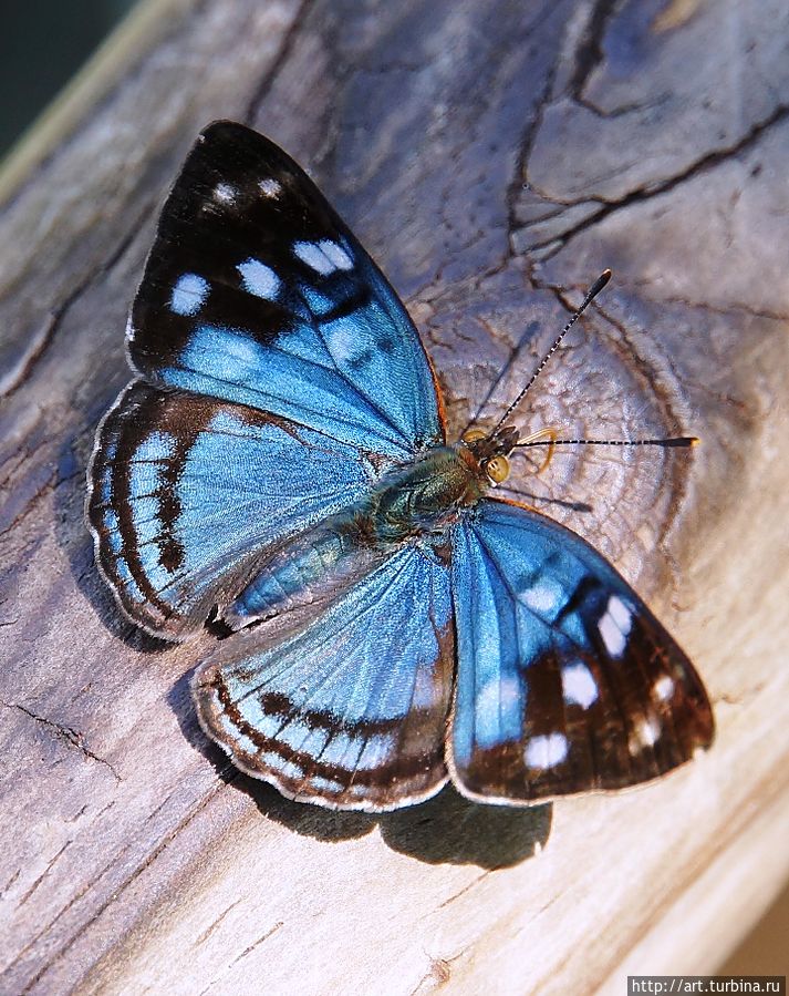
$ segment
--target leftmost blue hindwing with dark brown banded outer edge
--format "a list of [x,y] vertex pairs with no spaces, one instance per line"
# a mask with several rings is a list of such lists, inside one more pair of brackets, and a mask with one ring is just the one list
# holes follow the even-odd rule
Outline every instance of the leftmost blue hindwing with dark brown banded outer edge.
[[179,639],[229,604],[263,550],[360,500],[374,474],[349,443],[136,381],[89,474],[96,561],[135,623]]

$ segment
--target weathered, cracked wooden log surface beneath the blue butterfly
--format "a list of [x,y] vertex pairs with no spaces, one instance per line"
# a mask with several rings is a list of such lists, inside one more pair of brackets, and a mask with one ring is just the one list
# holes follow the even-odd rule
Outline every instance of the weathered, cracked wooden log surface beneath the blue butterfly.
[[[714,968],[789,870],[786,4],[145,17],[0,212],[0,990],[622,993],[627,971]],[[591,504],[547,507],[697,661],[709,754],[553,810],[445,792],[373,819],[289,803],[206,742],[187,679],[209,640],[118,617],[82,503],[156,206],[218,116],[312,170],[408,301],[455,427],[503,371],[500,410],[614,268],[527,428],[704,444],[563,452],[517,483]]]

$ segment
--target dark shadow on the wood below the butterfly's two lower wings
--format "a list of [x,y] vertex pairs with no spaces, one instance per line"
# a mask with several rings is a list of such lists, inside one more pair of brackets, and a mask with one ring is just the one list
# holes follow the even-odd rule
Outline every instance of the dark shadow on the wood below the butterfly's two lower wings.
[[551,830],[552,805],[525,809],[480,805],[447,785],[419,805],[391,813],[340,812],[292,802],[272,785],[240,772],[197,722],[191,672],[172,687],[168,702],[184,737],[217,776],[252,800],[258,811],[289,830],[328,843],[365,836],[377,826],[386,844],[427,864],[508,867],[539,853]]

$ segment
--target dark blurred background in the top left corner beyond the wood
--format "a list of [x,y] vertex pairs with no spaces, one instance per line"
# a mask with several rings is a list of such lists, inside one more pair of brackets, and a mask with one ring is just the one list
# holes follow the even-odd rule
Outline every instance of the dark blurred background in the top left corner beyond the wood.
[[0,156],[135,0],[0,0]]

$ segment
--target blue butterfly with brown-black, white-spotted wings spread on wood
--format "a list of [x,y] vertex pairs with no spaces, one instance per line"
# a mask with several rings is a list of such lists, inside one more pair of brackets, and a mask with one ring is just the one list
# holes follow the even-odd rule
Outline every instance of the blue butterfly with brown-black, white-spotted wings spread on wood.
[[699,677],[630,585],[494,496],[529,441],[500,421],[447,442],[404,306],[268,138],[199,135],[126,338],[89,471],[96,562],[148,633],[225,636],[194,699],[242,771],[331,809],[448,780],[520,805],[710,745]]

